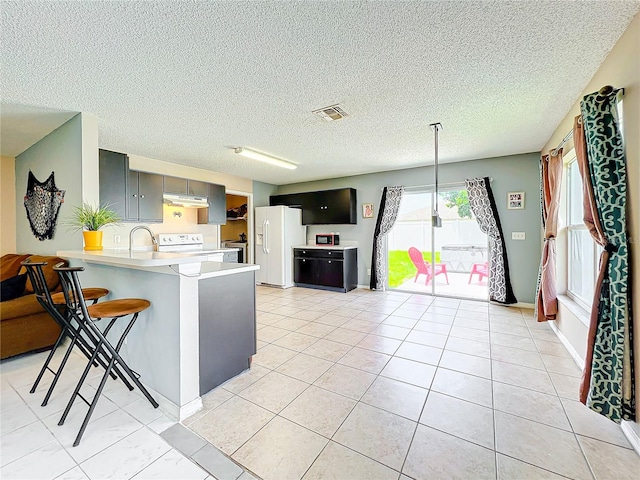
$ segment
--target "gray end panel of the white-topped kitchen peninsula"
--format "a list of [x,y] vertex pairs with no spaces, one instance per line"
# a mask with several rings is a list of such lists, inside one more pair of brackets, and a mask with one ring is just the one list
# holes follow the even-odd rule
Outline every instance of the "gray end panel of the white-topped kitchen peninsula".
[[200,395],[250,366],[256,348],[256,279],[244,272],[199,282]]

